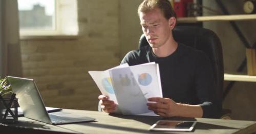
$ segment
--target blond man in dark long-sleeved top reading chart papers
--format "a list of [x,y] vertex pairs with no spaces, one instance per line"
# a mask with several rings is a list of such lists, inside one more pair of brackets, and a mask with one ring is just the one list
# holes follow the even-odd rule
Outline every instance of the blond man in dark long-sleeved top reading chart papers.
[[[172,30],[176,15],[168,0],[144,0],[138,15],[142,31],[150,44],[126,54],[122,63],[159,64],[164,98],[148,98],[148,109],[162,117],[219,118],[221,103],[216,100],[209,59],[201,52],[178,43]],[[112,113],[116,104],[99,96],[101,108]]]

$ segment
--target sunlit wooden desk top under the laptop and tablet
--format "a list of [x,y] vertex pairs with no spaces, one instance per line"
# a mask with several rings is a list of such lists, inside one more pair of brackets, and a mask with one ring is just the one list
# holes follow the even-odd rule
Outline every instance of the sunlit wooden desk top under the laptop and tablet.
[[[60,130],[64,133],[161,133],[148,131],[151,125],[161,117],[147,117],[147,116],[120,116],[120,115],[108,115],[98,111],[86,111],[86,110],[71,110],[64,109],[65,112],[82,114],[84,116],[95,118],[95,122],[84,122],[77,124],[63,124],[63,125],[48,125],[45,123],[39,123],[45,125],[45,129],[42,133],[55,133],[56,130]],[[255,121],[240,121],[240,120],[221,120],[221,119],[205,119],[205,118],[169,118],[170,120],[197,120],[196,129],[189,133],[252,133],[256,131]],[[31,122],[33,120],[26,119],[24,117],[19,118],[20,122]],[[34,123],[38,123],[33,121]],[[43,130],[44,127],[36,129]],[[65,130],[66,128],[67,130]],[[0,127],[0,130],[2,128]],[[53,132],[51,131],[53,130]],[[75,131],[71,131],[75,130]],[[36,133],[38,130],[35,130]],[[35,132],[33,131],[33,132]],[[2,132],[2,131],[1,131]],[[31,132],[32,133],[32,132]],[[168,133],[168,132],[162,132]],[[174,132],[172,132],[174,133]],[[175,132],[175,133],[188,133],[188,132]]]

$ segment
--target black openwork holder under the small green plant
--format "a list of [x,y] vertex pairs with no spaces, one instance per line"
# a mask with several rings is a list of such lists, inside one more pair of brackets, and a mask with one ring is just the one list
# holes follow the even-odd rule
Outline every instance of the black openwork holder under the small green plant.
[[0,123],[16,123],[18,121],[18,99],[0,96]]

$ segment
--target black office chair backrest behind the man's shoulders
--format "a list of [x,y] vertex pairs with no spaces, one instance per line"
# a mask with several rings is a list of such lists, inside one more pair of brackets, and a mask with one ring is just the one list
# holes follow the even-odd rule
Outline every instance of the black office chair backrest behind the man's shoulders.
[[[173,30],[173,36],[177,42],[201,50],[209,57],[214,71],[214,83],[218,100],[222,102],[224,69],[219,37],[209,29],[184,26],[177,26]],[[139,40],[139,48],[146,45],[148,45],[148,42],[142,34]]]

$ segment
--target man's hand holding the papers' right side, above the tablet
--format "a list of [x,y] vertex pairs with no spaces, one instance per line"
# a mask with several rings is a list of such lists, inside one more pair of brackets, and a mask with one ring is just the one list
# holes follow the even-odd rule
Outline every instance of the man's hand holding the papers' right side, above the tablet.
[[156,103],[147,103],[148,109],[153,110],[155,114],[162,117],[178,116],[178,104],[169,98],[148,98],[148,101]]

